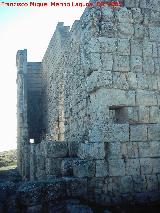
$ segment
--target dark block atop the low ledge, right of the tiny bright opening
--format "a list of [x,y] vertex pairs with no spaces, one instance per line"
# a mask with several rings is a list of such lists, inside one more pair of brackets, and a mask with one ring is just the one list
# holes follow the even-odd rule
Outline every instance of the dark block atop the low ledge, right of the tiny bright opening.
[[47,157],[61,158],[68,155],[68,143],[64,141],[43,141],[43,147]]

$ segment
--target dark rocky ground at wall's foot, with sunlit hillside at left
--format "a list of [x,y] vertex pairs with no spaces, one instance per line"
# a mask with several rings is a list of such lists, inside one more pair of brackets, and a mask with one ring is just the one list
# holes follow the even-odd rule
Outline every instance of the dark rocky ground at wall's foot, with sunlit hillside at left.
[[[9,155],[11,154],[11,156]],[[56,199],[58,184],[22,182],[14,151],[0,153],[0,213],[142,213],[160,212],[160,203],[130,206],[96,206],[78,198]],[[7,162],[5,162],[7,159]],[[7,165],[7,166],[4,166]]]

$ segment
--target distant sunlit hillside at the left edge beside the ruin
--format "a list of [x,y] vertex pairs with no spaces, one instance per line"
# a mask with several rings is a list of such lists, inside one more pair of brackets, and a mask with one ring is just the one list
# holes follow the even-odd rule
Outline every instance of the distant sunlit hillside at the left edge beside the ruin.
[[16,150],[0,152],[0,168],[17,164]]

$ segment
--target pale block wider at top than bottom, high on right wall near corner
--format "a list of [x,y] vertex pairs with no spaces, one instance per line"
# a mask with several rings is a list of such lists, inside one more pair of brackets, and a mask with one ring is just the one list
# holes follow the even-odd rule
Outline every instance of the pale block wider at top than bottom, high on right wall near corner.
[[116,51],[116,38],[99,37],[98,41],[102,53],[113,53]]

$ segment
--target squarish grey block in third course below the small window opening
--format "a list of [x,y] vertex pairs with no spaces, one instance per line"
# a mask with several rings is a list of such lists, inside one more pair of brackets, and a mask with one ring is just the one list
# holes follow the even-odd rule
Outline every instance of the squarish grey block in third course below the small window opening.
[[110,176],[125,176],[124,160],[109,160],[108,165]]

